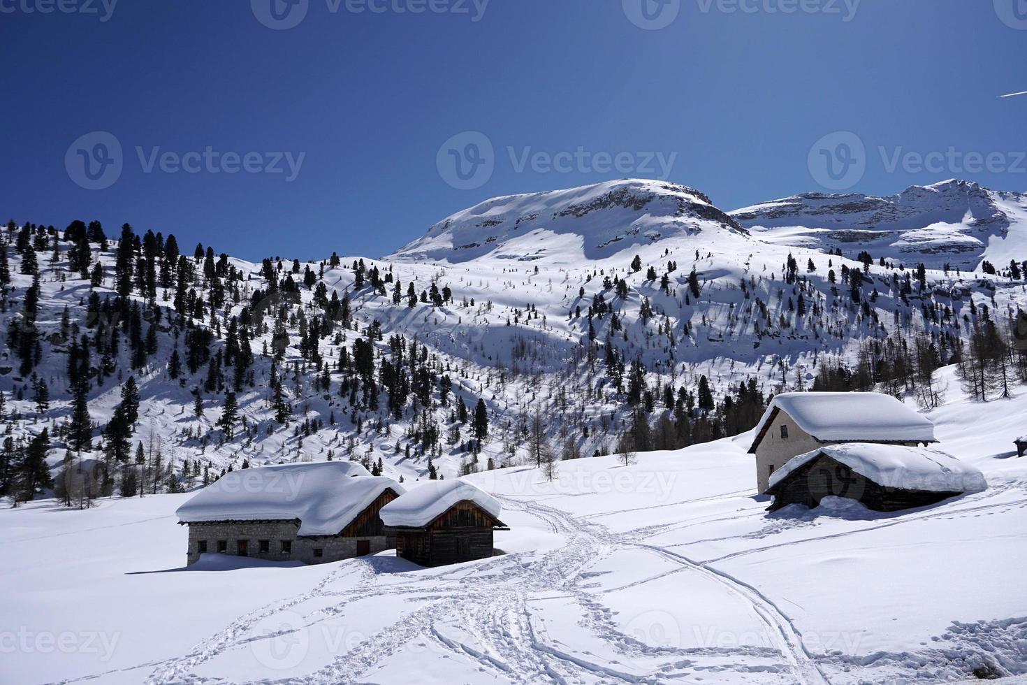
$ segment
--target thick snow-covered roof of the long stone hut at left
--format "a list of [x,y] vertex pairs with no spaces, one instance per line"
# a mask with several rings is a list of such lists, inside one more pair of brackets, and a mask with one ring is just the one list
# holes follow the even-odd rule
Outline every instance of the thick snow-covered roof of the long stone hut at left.
[[349,461],[244,468],[225,473],[176,513],[182,523],[299,519],[297,535],[336,535],[386,489],[406,492]]

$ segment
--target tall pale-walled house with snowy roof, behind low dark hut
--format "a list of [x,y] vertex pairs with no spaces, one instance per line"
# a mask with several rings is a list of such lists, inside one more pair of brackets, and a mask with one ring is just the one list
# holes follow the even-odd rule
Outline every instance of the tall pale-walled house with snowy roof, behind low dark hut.
[[881,392],[783,392],[756,426],[756,484],[767,491],[770,475],[792,457],[825,445],[878,443],[916,447],[937,443],[935,424]]

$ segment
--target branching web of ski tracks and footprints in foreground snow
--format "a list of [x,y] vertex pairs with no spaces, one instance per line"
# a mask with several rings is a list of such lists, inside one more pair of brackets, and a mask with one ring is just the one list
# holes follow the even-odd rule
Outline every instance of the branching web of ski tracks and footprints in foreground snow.
[[[419,573],[402,579],[397,579],[401,576],[393,576],[391,579],[395,582],[390,583],[382,583],[382,576],[375,573],[368,562],[343,564],[329,572],[313,589],[243,614],[197,644],[188,654],[157,664],[147,682],[198,684],[220,681],[199,676],[195,670],[253,641],[279,637],[280,634],[253,637],[249,632],[259,621],[279,612],[300,610],[298,607],[310,600],[329,598],[337,600],[337,603],[307,616],[308,625],[342,612],[348,604],[358,600],[402,595],[420,606],[319,670],[286,680],[310,685],[359,682],[383,660],[422,639],[431,643],[433,650],[469,658],[481,670],[516,682],[656,683],[668,678],[681,678],[687,675],[687,670],[693,669],[779,673],[787,679],[782,682],[803,685],[828,683],[813,657],[803,649],[801,636],[791,619],[751,585],[674,551],[630,541],[627,535],[611,533],[599,524],[584,522],[560,509],[532,501],[497,497],[505,506],[544,523],[554,533],[564,536],[566,543],[537,557],[506,555],[477,564],[472,569],[457,567],[430,576]],[[610,591],[585,587],[583,581],[589,576],[582,571],[612,553],[624,549],[643,549],[680,566],[679,571],[701,573],[720,583],[766,625],[768,635],[777,642],[776,649],[653,647],[621,633],[616,629],[611,612],[597,599]],[[467,576],[471,571],[476,575]],[[339,592],[332,589],[333,584],[353,573],[362,575],[355,586]],[[633,584],[644,584],[664,575],[667,573]],[[533,601],[553,599],[554,594],[572,599],[581,610],[578,625],[608,642],[617,656],[655,658],[661,660],[662,665],[656,672],[638,675],[616,668],[616,661],[596,662],[562,648],[563,645],[553,640],[541,621],[533,615],[531,606]],[[472,636],[477,645],[465,644],[447,635],[446,627],[453,625]],[[746,663],[730,660],[731,657],[743,656],[771,662],[753,663],[751,658]],[[717,662],[703,663],[703,658],[713,658]],[[724,662],[725,658],[729,660]]]

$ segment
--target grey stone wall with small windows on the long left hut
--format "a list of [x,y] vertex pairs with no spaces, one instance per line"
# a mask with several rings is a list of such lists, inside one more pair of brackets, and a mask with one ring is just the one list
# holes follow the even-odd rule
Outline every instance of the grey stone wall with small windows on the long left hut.
[[[268,561],[298,561],[304,564],[327,564],[357,556],[360,541],[366,541],[367,554],[391,549],[395,538],[384,535],[374,537],[297,537],[299,522],[231,522],[189,524],[189,549],[187,564],[199,560],[201,543],[206,543],[206,553],[240,556],[240,542],[244,556]],[[261,550],[261,541],[267,542],[267,549]],[[283,544],[284,543],[284,544]],[[320,555],[317,555],[320,550]]]

